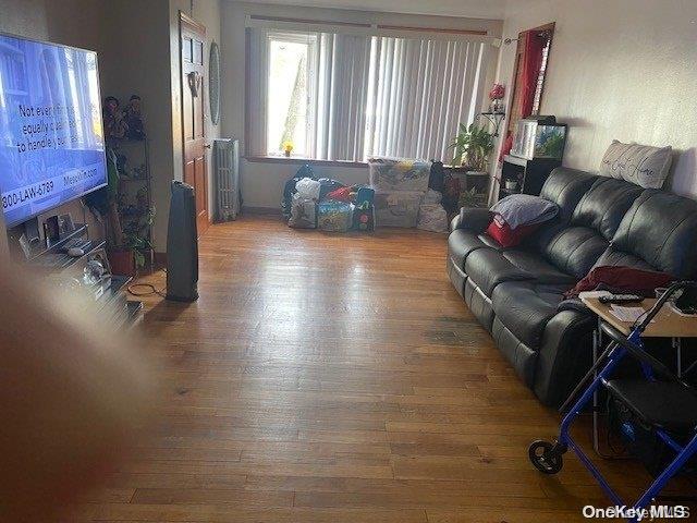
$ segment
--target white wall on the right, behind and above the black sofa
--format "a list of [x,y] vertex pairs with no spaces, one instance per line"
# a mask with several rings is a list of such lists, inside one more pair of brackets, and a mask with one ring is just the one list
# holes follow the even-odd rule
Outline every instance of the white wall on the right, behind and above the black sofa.
[[[541,113],[570,124],[564,165],[597,171],[614,138],[677,149],[673,191],[697,195],[697,2],[529,0],[504,37],[555,22]],[[503,46],[511,85],[515,44]],[[510,89],[509,89],[510,90]]]

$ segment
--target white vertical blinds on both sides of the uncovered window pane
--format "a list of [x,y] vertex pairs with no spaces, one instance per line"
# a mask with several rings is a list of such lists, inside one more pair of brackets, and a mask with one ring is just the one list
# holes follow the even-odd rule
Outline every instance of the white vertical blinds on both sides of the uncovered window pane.
[[[458,123],[472,123],[481,105],[485,42],[314,34],[311,158],[450,161]],[[247,35],[247,154],[266,155],[269,39],[258,27]]]

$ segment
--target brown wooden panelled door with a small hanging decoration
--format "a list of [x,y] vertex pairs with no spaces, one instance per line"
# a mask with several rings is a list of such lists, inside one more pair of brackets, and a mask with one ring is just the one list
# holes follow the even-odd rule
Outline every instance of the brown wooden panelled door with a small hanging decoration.
[[210,224],[204,124],[205,49],[206,27],[180,13],[184,183],[192,185],[196,193],[196,227],[199,235]]

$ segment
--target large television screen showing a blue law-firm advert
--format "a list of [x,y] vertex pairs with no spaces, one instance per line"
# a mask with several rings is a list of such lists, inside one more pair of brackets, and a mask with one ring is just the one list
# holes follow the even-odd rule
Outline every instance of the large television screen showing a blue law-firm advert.
[[0,193],[7,227],[106,183],[97,54],[0,35]]

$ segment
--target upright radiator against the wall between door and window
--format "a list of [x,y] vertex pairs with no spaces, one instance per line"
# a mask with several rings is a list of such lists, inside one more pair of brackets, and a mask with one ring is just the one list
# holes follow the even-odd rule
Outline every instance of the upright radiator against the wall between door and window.
[[240,212],[240,141],[213,139],[216,221],[231,221]]

